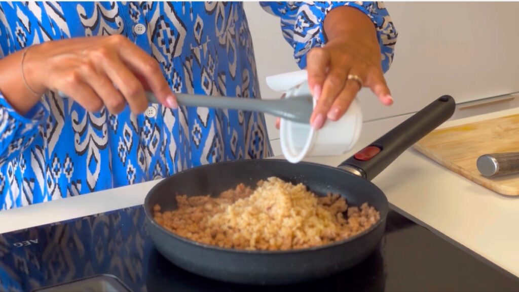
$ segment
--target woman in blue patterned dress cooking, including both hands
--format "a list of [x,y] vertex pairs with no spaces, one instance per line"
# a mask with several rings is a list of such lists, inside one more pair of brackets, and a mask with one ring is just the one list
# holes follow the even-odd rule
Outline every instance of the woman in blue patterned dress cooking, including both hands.
[[[361,86],[392,103],[397,33],[381,3],[261,5],[308,69],[313,127]],[[2,2],[0,55],[2,210],[271,155],[263,115],[175,101],[260,98],[242,3]]]

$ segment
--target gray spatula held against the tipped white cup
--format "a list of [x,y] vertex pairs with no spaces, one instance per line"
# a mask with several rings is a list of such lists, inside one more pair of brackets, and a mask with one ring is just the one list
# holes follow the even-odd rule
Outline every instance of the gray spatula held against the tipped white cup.
[[[66,98],[61,92],[60,95]],[[227,98],[224,96],[185,93],[175,93],[175,96],[181,106],[228,108],[248,110],[250,112],[262,112],[299,123],[309,123],[313,110],[312,96],[310,95],[278,100]],[[151,103],[158,103],[157,98],[152,92],[147,91],[146,98]]]

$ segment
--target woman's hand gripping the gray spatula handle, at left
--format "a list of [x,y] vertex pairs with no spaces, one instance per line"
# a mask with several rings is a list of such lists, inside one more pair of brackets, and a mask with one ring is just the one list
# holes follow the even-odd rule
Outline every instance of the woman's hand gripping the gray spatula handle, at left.
[[142,113],[148,106],[145,89],[163,105],[177,106],[158,62],[121,35],[36,45],[25,55],[23,72],[32,90],[63,92],[89,112],[106,106],[117,114],[128,104]]

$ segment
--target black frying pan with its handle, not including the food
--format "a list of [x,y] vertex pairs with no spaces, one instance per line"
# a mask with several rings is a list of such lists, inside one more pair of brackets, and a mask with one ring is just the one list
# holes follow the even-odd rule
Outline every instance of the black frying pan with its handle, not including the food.
[[[361,151],[364,155],[355,155],[338,168],[265,159],[214,163],[174,174],[163,179],[147,194],[144,210],[148,233],[158,251],[175,265],[226,282],[288,284],[345,270],[373,253],[386,226],[388,201],[370,180],[408,147],[449,119],[454,109],[454,99],[442,96],[370,144],[381,149],[378,154],[369,158],[366,154],[370,151]],[[373,155],[374,152],[371,153]],[[270,252],[242,251],[197,243],[169,232],[153,219],[155,204],[159,204],[162,211],[176,208],[176,194],[217,195],[240,183],[255,186],[256,182],[270,176],[303,183],[320,196],[328,192],[340,193],[349,205],[367,202],[380,212],[380,220],[370,229],[347,240],[307,249]]]

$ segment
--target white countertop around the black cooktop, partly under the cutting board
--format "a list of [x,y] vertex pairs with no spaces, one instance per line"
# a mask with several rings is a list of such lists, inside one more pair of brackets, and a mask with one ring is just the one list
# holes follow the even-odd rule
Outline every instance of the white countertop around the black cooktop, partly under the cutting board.
[[[449,121],[442,127],[519,113],[519,108]],[[407,116],[364,124],[358,146],[342,157],[307,159],[338,165]],[[0,212],[0,233],[139,205],[158,181]],[[407,150],[373,182],[391,206],[443,238],[519,276],[519,197],[501,196]]]

